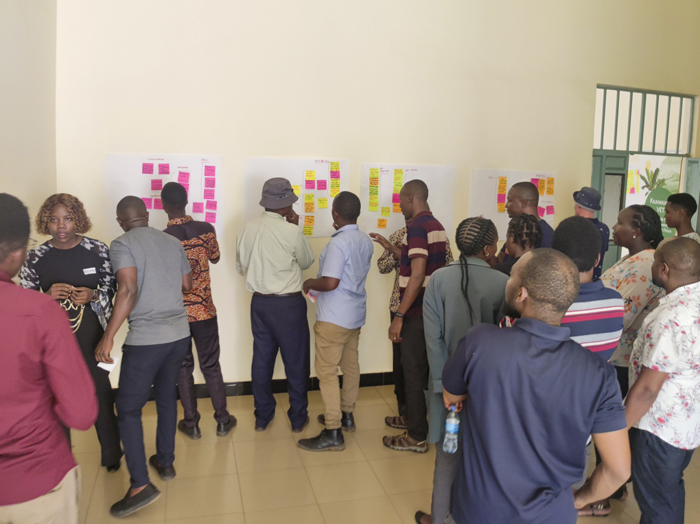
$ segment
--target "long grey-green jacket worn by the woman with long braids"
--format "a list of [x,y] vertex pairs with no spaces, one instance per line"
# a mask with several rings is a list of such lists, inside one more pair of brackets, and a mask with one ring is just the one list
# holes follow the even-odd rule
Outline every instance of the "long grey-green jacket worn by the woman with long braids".
[[442,368],[456,350],[458,341],[477,324],[497,324],[505,298],[507,275],[492,269],[480,258],[467,258],[469,286],[467,292],[474,312],[462,293],[460,261],[444,266],[430,276],[423,296],[423,326],[430,364],[428,442],[439,442],[444,432],[447,410],[442,402]]

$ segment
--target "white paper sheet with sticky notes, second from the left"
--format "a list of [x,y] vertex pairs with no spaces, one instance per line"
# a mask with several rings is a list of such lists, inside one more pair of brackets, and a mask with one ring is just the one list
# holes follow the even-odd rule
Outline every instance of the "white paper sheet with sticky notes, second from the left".
[[340,191],[348,191],[350,161],[337,158],[248,158],[244,167],[244,220],[264,211],[260,207],[262,185],[272,178],[285,178],[299,196],[293,205],[299,228],[307,237],[330,237],[335,233],[330,209]]

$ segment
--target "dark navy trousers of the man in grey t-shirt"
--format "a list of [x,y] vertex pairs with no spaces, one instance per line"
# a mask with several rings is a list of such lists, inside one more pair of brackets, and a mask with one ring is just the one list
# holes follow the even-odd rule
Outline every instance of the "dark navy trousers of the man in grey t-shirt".
[[177,427],[177,377],[187,354],[190,337],[155,345],[124,345],[119,375],[117,421],[127,457],[132,488],[148,484],[144,425],[141,409],[155,392],[158,430],[155,437],[156,458],[161,466],[175,461]]

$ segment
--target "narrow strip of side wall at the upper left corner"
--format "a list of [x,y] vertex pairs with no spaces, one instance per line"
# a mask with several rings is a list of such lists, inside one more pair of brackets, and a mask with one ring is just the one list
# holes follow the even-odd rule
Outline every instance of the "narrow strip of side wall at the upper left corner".
[[56,1],[0,0],[0,193],[56,190]]

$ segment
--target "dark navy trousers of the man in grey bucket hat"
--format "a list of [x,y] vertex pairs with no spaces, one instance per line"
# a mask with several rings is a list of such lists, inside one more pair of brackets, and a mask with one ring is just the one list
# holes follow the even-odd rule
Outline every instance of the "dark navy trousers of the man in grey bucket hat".
[[281,353],[287,375],[292,427],[302,427],[309,415],[307,387],[311,376],[310,335],[306,298],[253,295],[253,399],[255,420],[265,427],[274,417],[276,401],[272,396],[272,372],[277,352]]

